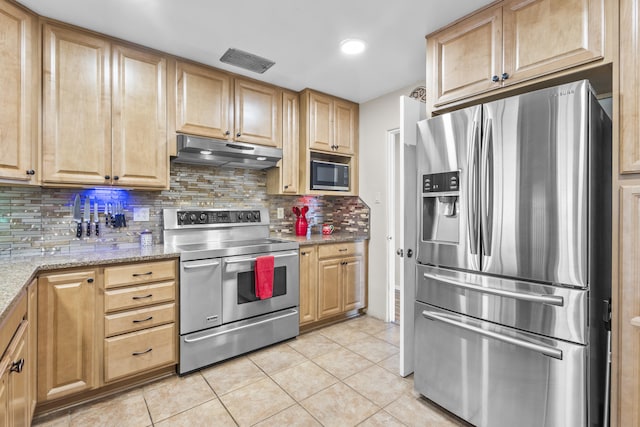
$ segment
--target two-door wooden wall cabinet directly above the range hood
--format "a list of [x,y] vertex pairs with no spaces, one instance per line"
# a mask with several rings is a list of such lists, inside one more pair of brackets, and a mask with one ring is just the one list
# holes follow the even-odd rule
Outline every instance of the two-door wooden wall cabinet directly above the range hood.
[[175,69],[176,132],[282,146],[279,88],[183,61]]

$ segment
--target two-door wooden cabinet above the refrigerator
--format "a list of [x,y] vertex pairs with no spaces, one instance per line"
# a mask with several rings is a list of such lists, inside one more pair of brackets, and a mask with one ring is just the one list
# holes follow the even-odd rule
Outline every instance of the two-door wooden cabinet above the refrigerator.
[[[505,0],[427,36],[435,107],[584,64],[610,61],[605,0]],[[593,66],[593,65],[588,65]]]

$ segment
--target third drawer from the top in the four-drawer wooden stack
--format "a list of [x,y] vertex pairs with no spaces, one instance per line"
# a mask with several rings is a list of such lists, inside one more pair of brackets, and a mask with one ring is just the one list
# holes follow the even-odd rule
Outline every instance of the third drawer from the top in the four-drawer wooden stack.
[[171,303],[109,314],[104,318],[104,334],[110,337],[174,322],[175,306],[175,304]]

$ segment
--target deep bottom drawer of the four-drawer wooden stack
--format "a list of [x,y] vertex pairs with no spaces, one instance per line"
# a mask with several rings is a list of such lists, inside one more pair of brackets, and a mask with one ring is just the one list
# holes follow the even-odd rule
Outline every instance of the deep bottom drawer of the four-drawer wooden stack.
[[104,358],[105,382],[176,363],[175,324],[107,338]]

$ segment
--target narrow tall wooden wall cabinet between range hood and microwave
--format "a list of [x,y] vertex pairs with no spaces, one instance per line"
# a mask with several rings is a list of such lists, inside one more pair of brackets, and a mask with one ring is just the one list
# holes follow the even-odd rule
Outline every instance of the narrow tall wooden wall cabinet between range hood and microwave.
[[268,194],[298,194],[299,114],[297,93],[282,92],[282,160],[267,170]]

